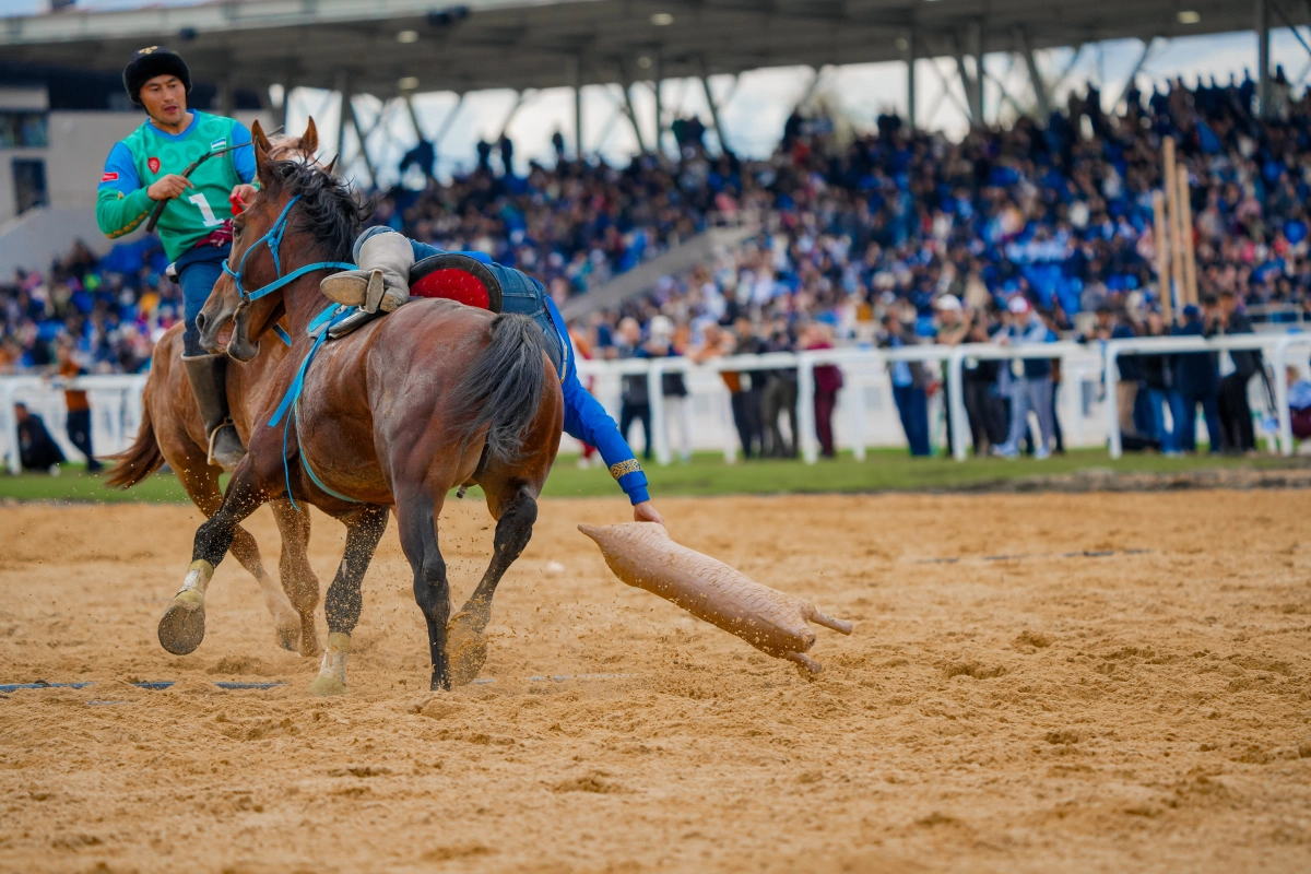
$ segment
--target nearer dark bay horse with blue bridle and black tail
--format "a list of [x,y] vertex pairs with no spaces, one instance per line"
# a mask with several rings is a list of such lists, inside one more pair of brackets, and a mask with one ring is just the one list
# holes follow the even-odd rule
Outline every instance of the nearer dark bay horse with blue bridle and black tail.
[[[564,423],[560,381],[531,320],[448,300],[416,300],[319,343],[309,326],[330,307],[319,282],[349,257],[361,210],[330,174],[270,161],[267,145],[258,134],[264,187],[235,221],[231,273],[197,326],[206,349],[249,360],[286,314],[292,346],[223,503],[195,533],[191,567],[160,620],[160,641],[172,653],[199,645],[205,587],[237,525],[260,504],[290,497],[346,525],[345,556],[325,600],[328,649],[311,685],[345,691],[361,583],[393,507],[427,624],[431,687],[448,689],[472,680],[485,660],[482,632],[497,583],[532,536]],[[279,249],[277,262],[270,245]],[[273,426],[274,406],[288,390],[298,400]],[[492,562],[452,617],[437,522],[461,484],[482,487],[498,522]]]

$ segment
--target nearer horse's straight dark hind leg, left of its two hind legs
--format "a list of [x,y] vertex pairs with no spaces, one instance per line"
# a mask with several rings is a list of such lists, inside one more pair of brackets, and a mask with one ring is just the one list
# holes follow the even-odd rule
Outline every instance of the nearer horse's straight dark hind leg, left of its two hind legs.
[[[444,497],[444,490],[440,493]],[[431,689],[450,691],[451,674],[446,658],[446,622],[451,617],[451,586],[446,560],[437,545],[437,518],[440,499],[412,494],[396,502],[401,549],[414,570],[414,601],[427,622],[427,649],[433,656]]]

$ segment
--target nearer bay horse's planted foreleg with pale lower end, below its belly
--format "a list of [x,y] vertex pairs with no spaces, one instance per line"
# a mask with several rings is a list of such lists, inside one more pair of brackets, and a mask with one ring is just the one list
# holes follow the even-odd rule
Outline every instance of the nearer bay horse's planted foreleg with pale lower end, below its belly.
[[387,507],[367,506],[345,516],[338,516],[346,524],[346,550],[337,567],[337,575],[328,586],[324,599],[324,612],[328,615],[328,647],[319,667],[319,676],[309,684],[315,694],[342,694],[346,692],[346,654],[350,651],[350,634],[359,621],[363,603],[361,584],[364,571],[374,558],[374,550],[383,532],[387,531]]

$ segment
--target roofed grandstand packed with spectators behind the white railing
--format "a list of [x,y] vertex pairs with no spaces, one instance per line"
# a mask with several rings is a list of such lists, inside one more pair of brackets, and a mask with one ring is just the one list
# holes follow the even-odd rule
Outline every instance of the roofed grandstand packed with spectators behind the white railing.
[[[1180,142],[1197,186],[1202,294],[1236,292],[1249,313],[1269,316],[1257,329],[1303,318],[1311,287],[1301,206],[1307,183],[1289,135],[1306,128],[1308,109],[1282,69],[1272,77],[1266,63],[1256,79],[1179,84],[1165,94],[1139,93],[1130,75],[1122,96],[1089,86],[1054,109],[1057,83],[1044,80],[1033,55],[1057,45],[1137,35],[1146,58],[1156,37],[1252,24],[1234,4],[1196,4],[1188,14],[1176,4],[1137,4],[1133,14],[1054,4],[1034,14],[1021,4],[979,10],[950,0],[762,9],[597,1],[475,3],[434,12],[405,3],[321,3],[312,9],[261,3],[10,20],[0,33],[12,50],[0,73],[26,83],[28,90],[10,93],[35,101],[29,106],[35,115],[49,107],[47,147],[58,182],[51,208],[30,211],[0,237],[0,253],[30,261],[39,252],[30,240],[51,236],[33,232],[37,219],[47,219],[49,227],[51,219],[64,223],[68,212],[85,210],[76,198],[89,197],[90,189],[76,185],[72,165],[94,165],[114,126],[135,123],[135,115],[113,111],[121,97],[110,71],[125,47],[169,38],[182,41],[198,76],[210,80],[197,90],[202,105],[269,119],[286,111],[286,100],[270,100],[270,83],[283,96],[295,86],[336,88],[342,124],[353,126],[355,142],[364,144],[367,132],[351,111],[358,93],[397,101],[413,113],[416,90],[430,88],[463,94],[572,84],[577,94],[583,85],[617,81],[628,94],[619,109],[645,145],[631,97],[635,80],[699,77],[712,110],[709,126],[700,119],[673,123],[657,98],[659,124],[670,122],[661,142],[667,145],[673,138],[675,151],[646,149],[627,168],[579,160],[582,104],[576,100],[573,148],[557,143],[553,166],[534,161],[527,174],[518,174],[502,151],[502,172],[493,160],[502,144],[488,143],[468,176],[374,195],[376,223],[442,248],[481,249],[540,278],[576,320],[578,339],[602,358],[632,352],[617,339],[624,317],[638,322],[644,339],[653,320],[669,320],[671,347],[682,354],[704,349],[704,326],[712,322],[737,322],[737,345],[728,351],[798,350],[810,322],[826,325],[839,345],[868,346],[885,337],[888,312],[912,325],[910,342],[932,342],[940,326],[935,301],[943,296],[977,313],[982,333],[975,339],[1004,329],[998,308],[1004,311],[1013,297],[1032,301],[1050,330],[1067,338],[1091,335],[1093,312],[1104,307],[1120,308],[1121,328],[1141,333],[1146,313],[1160,303],[1147,193],[1160,185],[1162,138]],[[1257,4],[1257,31],[1266,34],[1272,21],[1293,21],[1282,14],[1277,4]],[[1257,42],[1268,52],[1268,35]],[[587,45],[604,46],[607,54]],[[287,46],[279,68],[271,58]],[[1012,52],[1030,73],[1028,100],[1016,100],[998,83],[998,93],[1027,115],[1000,127],[977,123],[958,144],[919,128],[912,111],[880,117],[877,130],[851,131],[830,107],[805,100],[767,160],[739,157],[722,147],[724,138],[712,139],[721,119],[708,75],[763,64],[945,55],[956,63],[966,111],[982,119],[978,58],[996,51]],[[510,63],[498,60],[506,55]],[[354,66],[353,58],[387,60]],[[915,80],[909,76],[907,107],[916,106]],[[417,117],[414,122],[422,130]],[[72,134],[63,140],[66,130]],[[1256,166],[1260,180],[1252,178],[1261,185],[1247,193],[1244,162],[1253,149],[1265,156]],[[55,164],[56,157],[63,162]],[[367,148],[361,157],[376,176]],[[144,366],[149,338],[180,317],[177,290],[163,278],[163,258],[148,240],[97,261],[104,241],[80,233],[94,250],[79,248],[52,273],[29,271],[9,291],[4,355],[10,367],[47,366],[51,345],[68,335],[83,345],[92,370],[130,372]],[[69,249],[62,244],[62,252]],[[45,267],[49,254],[39,257],[37,266]],[[743,328],[743,317],[753,326]],[[610,384],[610,392],[617,410],[619,384]],[[1067,392],[1066,402],[1071,398]],[[932,402],[935,410],[939,402]],[[877,394],[865,405],[890,409],[880,406]],[[1074,409],[1057,417],[1057,425]],[[1088,415],[1087,404],[1082,414]],[[700,415],[713,419],[708,408]],[[1145,432],[1151,431],[1147,415],[1139,411]],[[888,423],[886,417],[880,421]],[[1131,427],[1127,421],[1121,426]],[[711,430],[697,426],[703,435]],[[852,446],[850,428],[839,431],[848,431],[840,440]],[[901,439],[886,428],[873,432],[882,435],[876,442]],[[763,434],[742,434],[743,448],[764,451]],[[1093,443],[1104,431],[1096,434]],[[722,443],[720,435],[699,440],[703,447]],[[669,457],[667,447],[662,456]]]

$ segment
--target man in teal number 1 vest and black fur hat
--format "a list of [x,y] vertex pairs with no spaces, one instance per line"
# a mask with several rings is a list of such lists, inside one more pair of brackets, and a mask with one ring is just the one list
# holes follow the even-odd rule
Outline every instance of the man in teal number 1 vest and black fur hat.
[[[231,470],[245,449],[228,417],[227,358],[201,347],[195,316],[201,312],[232,249],[232,208],[254,195],[254,149],[240,122],[187,110],[191,75],[182,59],[163,46],[132,54],[123,86],[148,118],[114,144],[105,160],[96,198],[96,220],[111,240],[131,233],[168,204],[156,227],[164,252],[182,286],[186,333],[182,362],[205,419],[210,461]],[[237,145],[182,173],[201,156]]]

